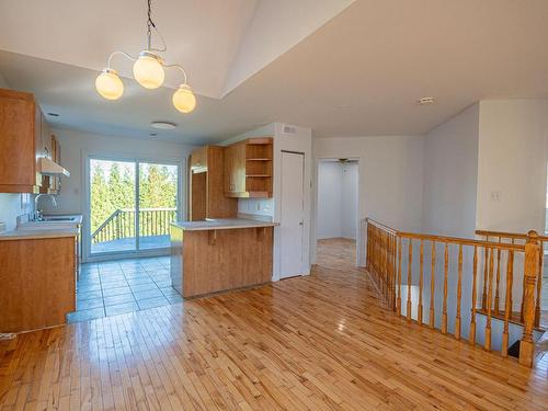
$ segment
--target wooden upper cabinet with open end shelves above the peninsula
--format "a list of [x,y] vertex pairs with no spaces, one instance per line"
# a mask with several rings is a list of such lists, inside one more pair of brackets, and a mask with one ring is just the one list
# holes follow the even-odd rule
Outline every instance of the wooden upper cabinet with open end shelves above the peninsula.
[[227,197],[272,197],[271,137],[250,138],[225,150],[225,195]]

